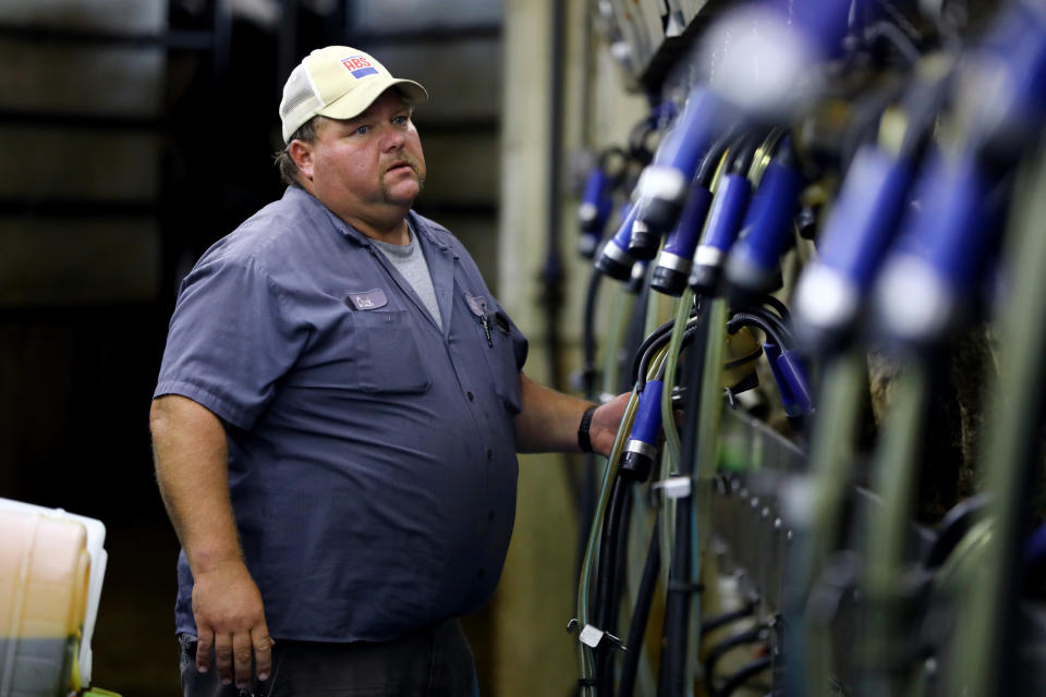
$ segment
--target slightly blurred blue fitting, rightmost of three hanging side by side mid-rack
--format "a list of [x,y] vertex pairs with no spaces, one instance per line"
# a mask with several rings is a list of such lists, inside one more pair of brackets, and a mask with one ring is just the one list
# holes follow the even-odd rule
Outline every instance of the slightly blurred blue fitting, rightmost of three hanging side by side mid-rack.
[[737,291],[769,293],[780,288],[780,256],[793,240],[802,187],[802,175],[795,168],[779,160],[766,167],[741,237],[727,259],[727,280]]

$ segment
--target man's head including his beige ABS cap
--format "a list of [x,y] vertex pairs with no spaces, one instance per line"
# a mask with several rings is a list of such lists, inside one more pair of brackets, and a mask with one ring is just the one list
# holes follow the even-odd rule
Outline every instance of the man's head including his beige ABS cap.
[[356,49],[313,51],[283,90],[281,173],[363,231],[402,221],[425,181],[411,121],[425,99],[421,85],[392,77]]

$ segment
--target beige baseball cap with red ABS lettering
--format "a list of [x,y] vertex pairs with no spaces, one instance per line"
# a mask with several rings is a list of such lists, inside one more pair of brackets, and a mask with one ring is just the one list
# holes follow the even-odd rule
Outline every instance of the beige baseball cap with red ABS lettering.
[[299,63],[283,85],[280,121],[283,142],[315,115],[352,119],[363,113],[389,87],[412,103],[428,101],[413,80],[392,77],[374,57],[350,46],[318,48]]

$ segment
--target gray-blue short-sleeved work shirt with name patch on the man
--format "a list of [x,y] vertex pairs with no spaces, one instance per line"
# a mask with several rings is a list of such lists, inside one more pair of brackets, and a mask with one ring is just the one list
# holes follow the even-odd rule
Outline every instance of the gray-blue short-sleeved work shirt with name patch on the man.
[[[527,343],[445,228],[411,213],[442,317],[288,188],[182,282],[155,395],[217,414],[276,638],[386,640],[474,612],[515,515]],[[179,558],[178,632],[195,634]]]

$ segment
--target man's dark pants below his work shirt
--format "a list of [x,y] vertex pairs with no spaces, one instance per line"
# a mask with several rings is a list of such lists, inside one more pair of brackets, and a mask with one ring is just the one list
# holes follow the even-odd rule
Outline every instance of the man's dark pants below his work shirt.
[[457,620],[392,641],[325,644],[277,639],[271,676],[247,689],[196,671],[196,637],[179,635],[184,697],[474,697],[472,649]]

